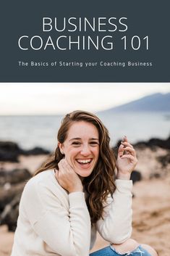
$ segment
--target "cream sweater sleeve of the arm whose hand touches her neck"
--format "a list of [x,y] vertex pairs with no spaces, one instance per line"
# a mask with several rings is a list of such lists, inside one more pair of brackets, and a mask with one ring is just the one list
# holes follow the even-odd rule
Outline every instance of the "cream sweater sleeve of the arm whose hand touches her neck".
[[88,256],[90,215],[83,192],[68,195],[69,209],[46,186],[30,184],[25,190],[25,212],[35,233],[54,253]]

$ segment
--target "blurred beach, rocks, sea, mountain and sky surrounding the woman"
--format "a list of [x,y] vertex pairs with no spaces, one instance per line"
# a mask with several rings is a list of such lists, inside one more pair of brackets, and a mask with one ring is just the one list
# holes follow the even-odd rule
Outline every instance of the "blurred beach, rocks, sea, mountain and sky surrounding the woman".
[[[25,181],[54,151],[61,119],[94,112],[111,146],[124,135],[138,157],[132,180],[133,234],[170,252],[170,83],[1,83],[0,256],[10,255]],[[94,250],[107,244],[100,236]]]

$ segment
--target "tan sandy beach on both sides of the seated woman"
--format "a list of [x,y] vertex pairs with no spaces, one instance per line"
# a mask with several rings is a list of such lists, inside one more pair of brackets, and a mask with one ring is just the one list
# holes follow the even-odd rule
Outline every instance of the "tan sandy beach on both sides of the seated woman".
[[[169,149],[148,146],[137,147],[138,163],[135,170],[142,175],[133,187],[132,199],[132,238],[141,244],[150,244],[160,256],[170,254],[170,163],[163,162],[169,156]],[[19,157],[19,162],[0,162],[0,168],[12,170],[27,168],[33,173],[47,155]],[[164,158],[163,158],[164,157]],[[14,232],[7,225],[0,226],[0,256],[9,256],[12,249]],[[109,244],[98,235],[92,251]]]

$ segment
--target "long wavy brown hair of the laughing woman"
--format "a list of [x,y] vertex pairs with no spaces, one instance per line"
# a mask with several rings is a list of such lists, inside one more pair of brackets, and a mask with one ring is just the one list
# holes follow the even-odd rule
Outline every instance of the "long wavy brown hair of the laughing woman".
[[[113,194],[116,189],[115,167],[116,160],[114,152],[109,146],[109,131],[101,120],[90,112],[77,110],[67,114],[61,122],[57,139],[62,144],[67,139],[67,133],[72,123],[85,121],[92,123],[98,129],[99,134],[99,157],[98,162],[90,176],[83,179],[82,184],[85,189],[86,203],[90,212],[91,223],[103,218],[103,203],[109,194]],[[55,153],[39,168],[34,175],[43,170],[58,168],[59,161],[63,158],[59,146]]]

